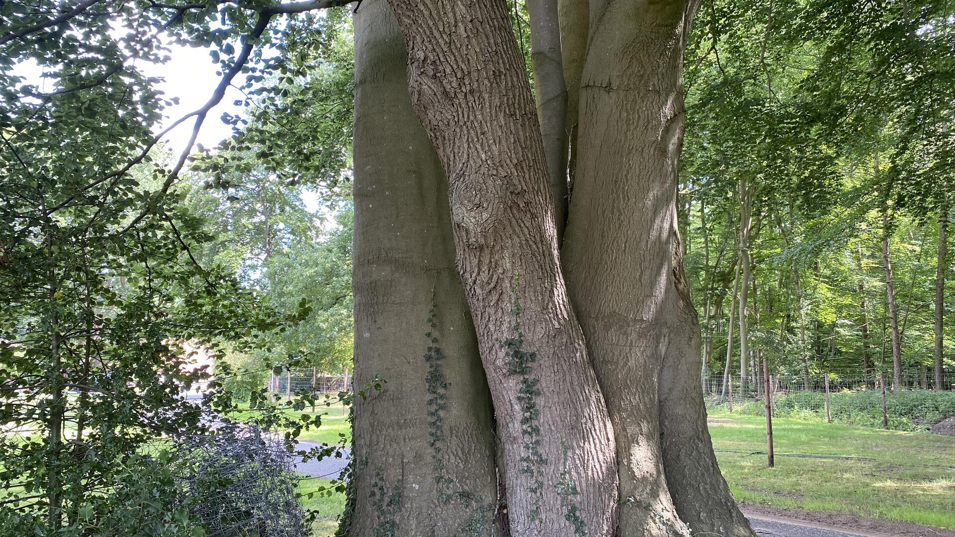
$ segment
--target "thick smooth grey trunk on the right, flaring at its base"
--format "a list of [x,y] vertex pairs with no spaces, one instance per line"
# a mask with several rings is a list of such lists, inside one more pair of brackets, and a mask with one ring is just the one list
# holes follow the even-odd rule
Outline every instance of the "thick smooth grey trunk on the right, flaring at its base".
[[[591,3],[580,152],[562,251],[617,439],[619,535],[689,534],[681,506],[688,518],[738,515],[712,458],[699,325],[673,262],[681,251],[675,196],[692,11],[692,2]],[[699,459],[665,468],[671,439]],[[694,492],[701,483],[703,495]],[[752,535],[745,521],[742,527]],[[693,530],[715,531],[705,523]]]

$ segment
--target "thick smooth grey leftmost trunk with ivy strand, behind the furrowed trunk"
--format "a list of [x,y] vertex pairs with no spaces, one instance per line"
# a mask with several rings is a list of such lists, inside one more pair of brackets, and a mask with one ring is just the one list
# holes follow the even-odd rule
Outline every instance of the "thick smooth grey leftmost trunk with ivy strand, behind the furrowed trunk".
[[350,535],[491,536],[490,393],[460,277],[446,181],[414,115],[385,0],[355,14],[356,389]]

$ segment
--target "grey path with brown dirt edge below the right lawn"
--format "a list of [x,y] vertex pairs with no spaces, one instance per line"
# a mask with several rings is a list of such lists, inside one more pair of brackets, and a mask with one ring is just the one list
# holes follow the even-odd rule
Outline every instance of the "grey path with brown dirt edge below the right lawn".
[[766,505],[740,505],[759,535],[775,537],[955,537],[955,531],[860,517]]

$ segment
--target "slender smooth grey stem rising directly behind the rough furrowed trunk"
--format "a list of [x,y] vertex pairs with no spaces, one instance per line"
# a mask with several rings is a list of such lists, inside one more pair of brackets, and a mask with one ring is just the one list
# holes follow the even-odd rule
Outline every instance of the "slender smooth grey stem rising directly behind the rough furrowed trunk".
[[560,244],[567,223],[567,86],[563,82],[557,4],[558,0],[526,0],[524,3],[530,16],[534,95]]

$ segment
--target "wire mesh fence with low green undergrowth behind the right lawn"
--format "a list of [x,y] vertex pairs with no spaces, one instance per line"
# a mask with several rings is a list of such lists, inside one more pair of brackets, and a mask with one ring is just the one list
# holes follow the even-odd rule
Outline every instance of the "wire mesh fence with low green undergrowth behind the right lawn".
[[[934,374],[924,382],[923,370],[903,370],[896,383],[891,372],[804,373],[709,376],[702,380],[707,406],[743,414],[765,413],[770,391],[774,416],[797,416],[900,430],[926,430],[955,420],[955,372],[942,376],[934,390]],[[928,389],[924,388],[928,386]]]

